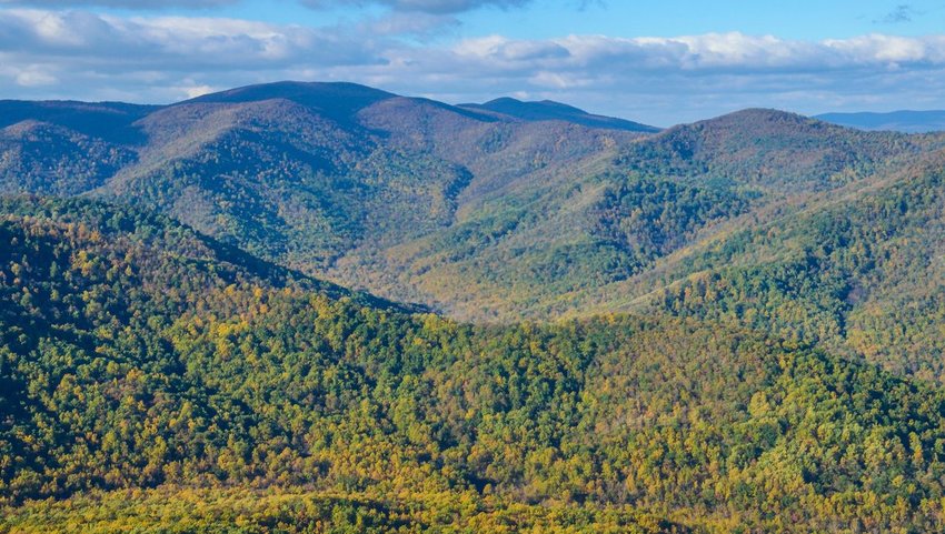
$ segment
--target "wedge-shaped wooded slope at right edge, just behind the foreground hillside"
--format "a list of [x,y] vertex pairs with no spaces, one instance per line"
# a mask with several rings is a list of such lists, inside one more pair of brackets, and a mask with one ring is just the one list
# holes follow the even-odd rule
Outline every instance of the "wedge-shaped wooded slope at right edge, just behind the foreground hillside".
[[945,265],[937,164],[845,202],[719,240],[654,306],[747,325],[942,382]]

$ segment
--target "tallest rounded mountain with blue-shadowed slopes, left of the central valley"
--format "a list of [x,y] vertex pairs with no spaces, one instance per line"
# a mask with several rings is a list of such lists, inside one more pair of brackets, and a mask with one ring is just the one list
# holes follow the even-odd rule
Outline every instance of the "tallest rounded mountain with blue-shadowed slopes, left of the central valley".
[[606,167],[616,147],[638,137],[355,84],[289,82],[152,110],[132,127],[147,141],[116,148],[127,157],[110,167],[92,151],[82,158],[74,141],[48,151],[92,167],[81,172],[33,171],[26,165],[50,165],[14,141],[4,190],[155,208],[291,268],[450,310],[458,306],[449,295],[404,283],[399,253],[389,251],[414,248],[507,194],[549,199],[551,213],[567,209],[557,189]]

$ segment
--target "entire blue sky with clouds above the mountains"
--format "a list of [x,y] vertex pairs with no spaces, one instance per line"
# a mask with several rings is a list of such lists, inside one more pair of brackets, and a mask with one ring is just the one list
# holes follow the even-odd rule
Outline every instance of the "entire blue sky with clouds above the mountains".
[[0,0],[0,99],[170,103],[279,80],[660,127],[945,109],[945,0]]

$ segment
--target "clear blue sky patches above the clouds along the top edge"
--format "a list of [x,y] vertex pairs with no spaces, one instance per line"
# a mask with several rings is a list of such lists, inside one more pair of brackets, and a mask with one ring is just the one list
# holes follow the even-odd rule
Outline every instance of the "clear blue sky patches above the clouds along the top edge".
[[[166,8],[151,12],[218,13],[273,23],[318,27],[358,20],[366,14],[380,16],[385,8],[377,4],[341,4],[309,9],[300,2],[270,0],[198,10]],[[945,2],[934,0],[536,0],[520,8],[486,6],[452,14],[461,21],[461,27],[445,31],[442,38],[490,33],[521,39],[548,39],[569,33],[675,37],[740,31],[788,39],[840,39],[891,30],[899,36],[922,36],[945,29]]]

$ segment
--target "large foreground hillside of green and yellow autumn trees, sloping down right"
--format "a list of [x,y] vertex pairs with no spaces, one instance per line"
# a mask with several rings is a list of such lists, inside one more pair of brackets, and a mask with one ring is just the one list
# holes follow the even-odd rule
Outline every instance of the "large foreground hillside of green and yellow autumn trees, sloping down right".
[[135,209],[2,209],[2,528],[943,527],[945,396],[868,364],[715,321],[462,325]]

